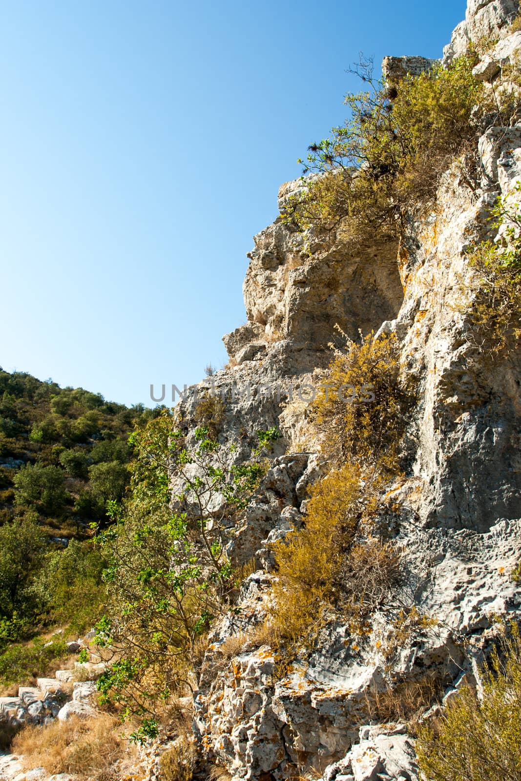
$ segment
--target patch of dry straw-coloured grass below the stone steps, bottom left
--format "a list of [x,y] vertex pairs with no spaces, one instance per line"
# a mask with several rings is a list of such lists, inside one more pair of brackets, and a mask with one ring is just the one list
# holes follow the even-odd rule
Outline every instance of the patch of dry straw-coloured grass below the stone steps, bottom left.
[[43,767],[49,775],[71,773],[91,781],[118,781],[118,762],[125,747],[119,729],[119,722],[109,715],[28,726],[13,740],[12,751],[23,754],[27,769]]

